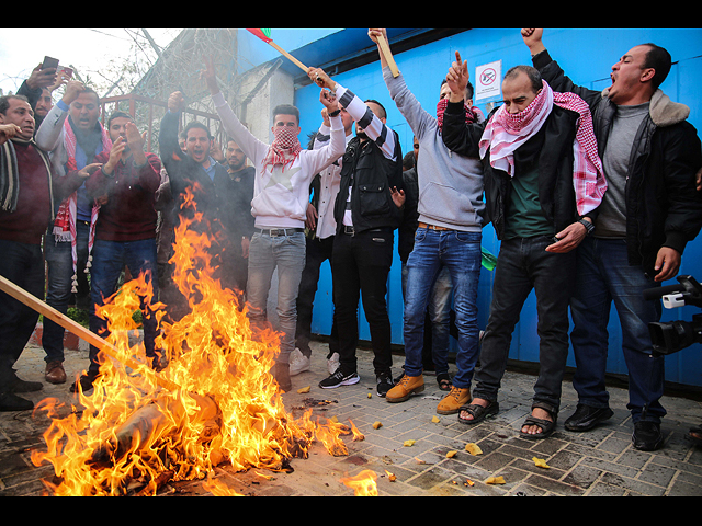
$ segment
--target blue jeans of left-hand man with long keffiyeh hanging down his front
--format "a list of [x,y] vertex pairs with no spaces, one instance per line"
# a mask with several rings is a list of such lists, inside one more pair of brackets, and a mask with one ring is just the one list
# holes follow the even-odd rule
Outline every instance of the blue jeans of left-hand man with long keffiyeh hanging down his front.
[[[83,279],[82,271],[88,261],[88,237],[90,226],[83,221],[76,224],[76,251],[78,254],[78,277]],[[72,297],[73,256],[70,242],[57,243],[53,233],[44,237],[44,258],[46,259],[47,286],[46,304],[54,307],[61,315],[68,312],[68,304]],[[82,276],[81,276],[82,273]],[[44,318],[44,332],[42,346],[46,353],[46,362],[64,362],[64,334],[65,330],[58,323]]]

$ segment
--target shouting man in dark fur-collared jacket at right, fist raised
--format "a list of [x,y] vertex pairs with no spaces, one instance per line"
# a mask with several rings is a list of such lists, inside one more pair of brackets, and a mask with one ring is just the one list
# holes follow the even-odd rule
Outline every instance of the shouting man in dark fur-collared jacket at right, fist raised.
[[521,33],[544,79],[589,104],[610,182],[595,231],[578,249],[570,307],[578,407],[565,426],[586,432],[614,414],[604,378],[614,304],[629,370],[632,443],[635,449],[656,450],[664,445],[665,357],[654,354],[648,327],[660,320],[663,307],[643,293],[677,276],[687,244],[702,228],[698,132],[688,122],[690,108],[660,89],[672,67],[663,47],[649,43],[627,50],[612,66],[612,84],[601,92],[566,76],[543,43],[543,28]]

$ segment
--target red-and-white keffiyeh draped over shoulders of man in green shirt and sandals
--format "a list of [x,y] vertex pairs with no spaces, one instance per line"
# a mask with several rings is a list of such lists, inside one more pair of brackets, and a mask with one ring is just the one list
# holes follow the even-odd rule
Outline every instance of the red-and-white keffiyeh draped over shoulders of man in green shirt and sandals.
[[575,93],[556,93],[543,81],[543,90],[523,112],[511,115],[506,106],[500,107],[480,139],[480,158],[485,159],[489,149],[490,165],[513,178],[514,151],[539,133],[551,115],[554,104],[580,115],[576,123],[576,138],[573,145],[573,183],[578,214],[585,216],[600,205],[608,184],[597,149],[590,107]]

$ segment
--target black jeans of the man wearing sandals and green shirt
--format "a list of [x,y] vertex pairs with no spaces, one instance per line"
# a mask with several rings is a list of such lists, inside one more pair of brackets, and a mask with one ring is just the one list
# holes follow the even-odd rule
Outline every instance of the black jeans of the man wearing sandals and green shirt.
[[534,402],[561,407],[563,376],[568,358],[568,305],[574,291],[575,252],[554,254],[545,249],[550,238],[517,238],[502,242],[495,271],[490,318],[475,374],[474,398],[497,400],[524,301],[536,291],[540,336],[539,379]]

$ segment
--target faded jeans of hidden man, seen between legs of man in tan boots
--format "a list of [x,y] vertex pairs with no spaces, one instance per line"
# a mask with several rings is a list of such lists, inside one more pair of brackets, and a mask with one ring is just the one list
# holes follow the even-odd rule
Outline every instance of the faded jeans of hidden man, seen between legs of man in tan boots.
[[[407,264],[403,265],[403,296],[407,297]],[[448,267],[437,276],[427,305],[427,315],[431,327],[431,359],[437,375],[449,373],[449,344],[451,342],[451,299],[453,284]],[[424,330],[427,327],[424,327]],[[424,339],[426,341],[426,339]]]

